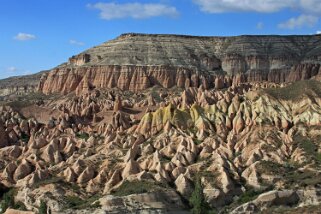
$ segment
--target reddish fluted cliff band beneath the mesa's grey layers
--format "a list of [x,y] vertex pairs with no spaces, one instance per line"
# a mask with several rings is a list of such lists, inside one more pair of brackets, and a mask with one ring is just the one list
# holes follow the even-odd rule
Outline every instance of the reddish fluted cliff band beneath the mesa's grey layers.
[[92,88],[119,88],[137,92],[154,85],[164,88],[174,86],[224,88],[242,82],[292,82],[321,75],[319,64],[300,64],[290,68],[260,70],[251,69],[234,76],[217,76],[183,67],[171,66],[90,66],[64,67],[42,76],[39,91],[45,94],[81,93]]

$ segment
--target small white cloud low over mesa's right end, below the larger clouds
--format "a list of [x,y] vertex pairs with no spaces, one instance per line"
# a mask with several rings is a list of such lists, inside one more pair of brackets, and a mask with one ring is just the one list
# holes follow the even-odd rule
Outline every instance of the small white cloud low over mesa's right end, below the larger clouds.
[[302,27],[313,27],[317,24],[319,18],[312,15],[300,15],[296,18],[291,18],[286,22],[280,23],[278,25],[281,29],[297,29]]

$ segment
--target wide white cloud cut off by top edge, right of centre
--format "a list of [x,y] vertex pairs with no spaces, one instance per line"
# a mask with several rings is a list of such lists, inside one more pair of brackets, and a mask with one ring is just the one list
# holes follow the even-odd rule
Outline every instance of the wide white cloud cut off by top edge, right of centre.
[[296,5],[297,0],[194,0],[208,13],[260,12],[273,13]]

